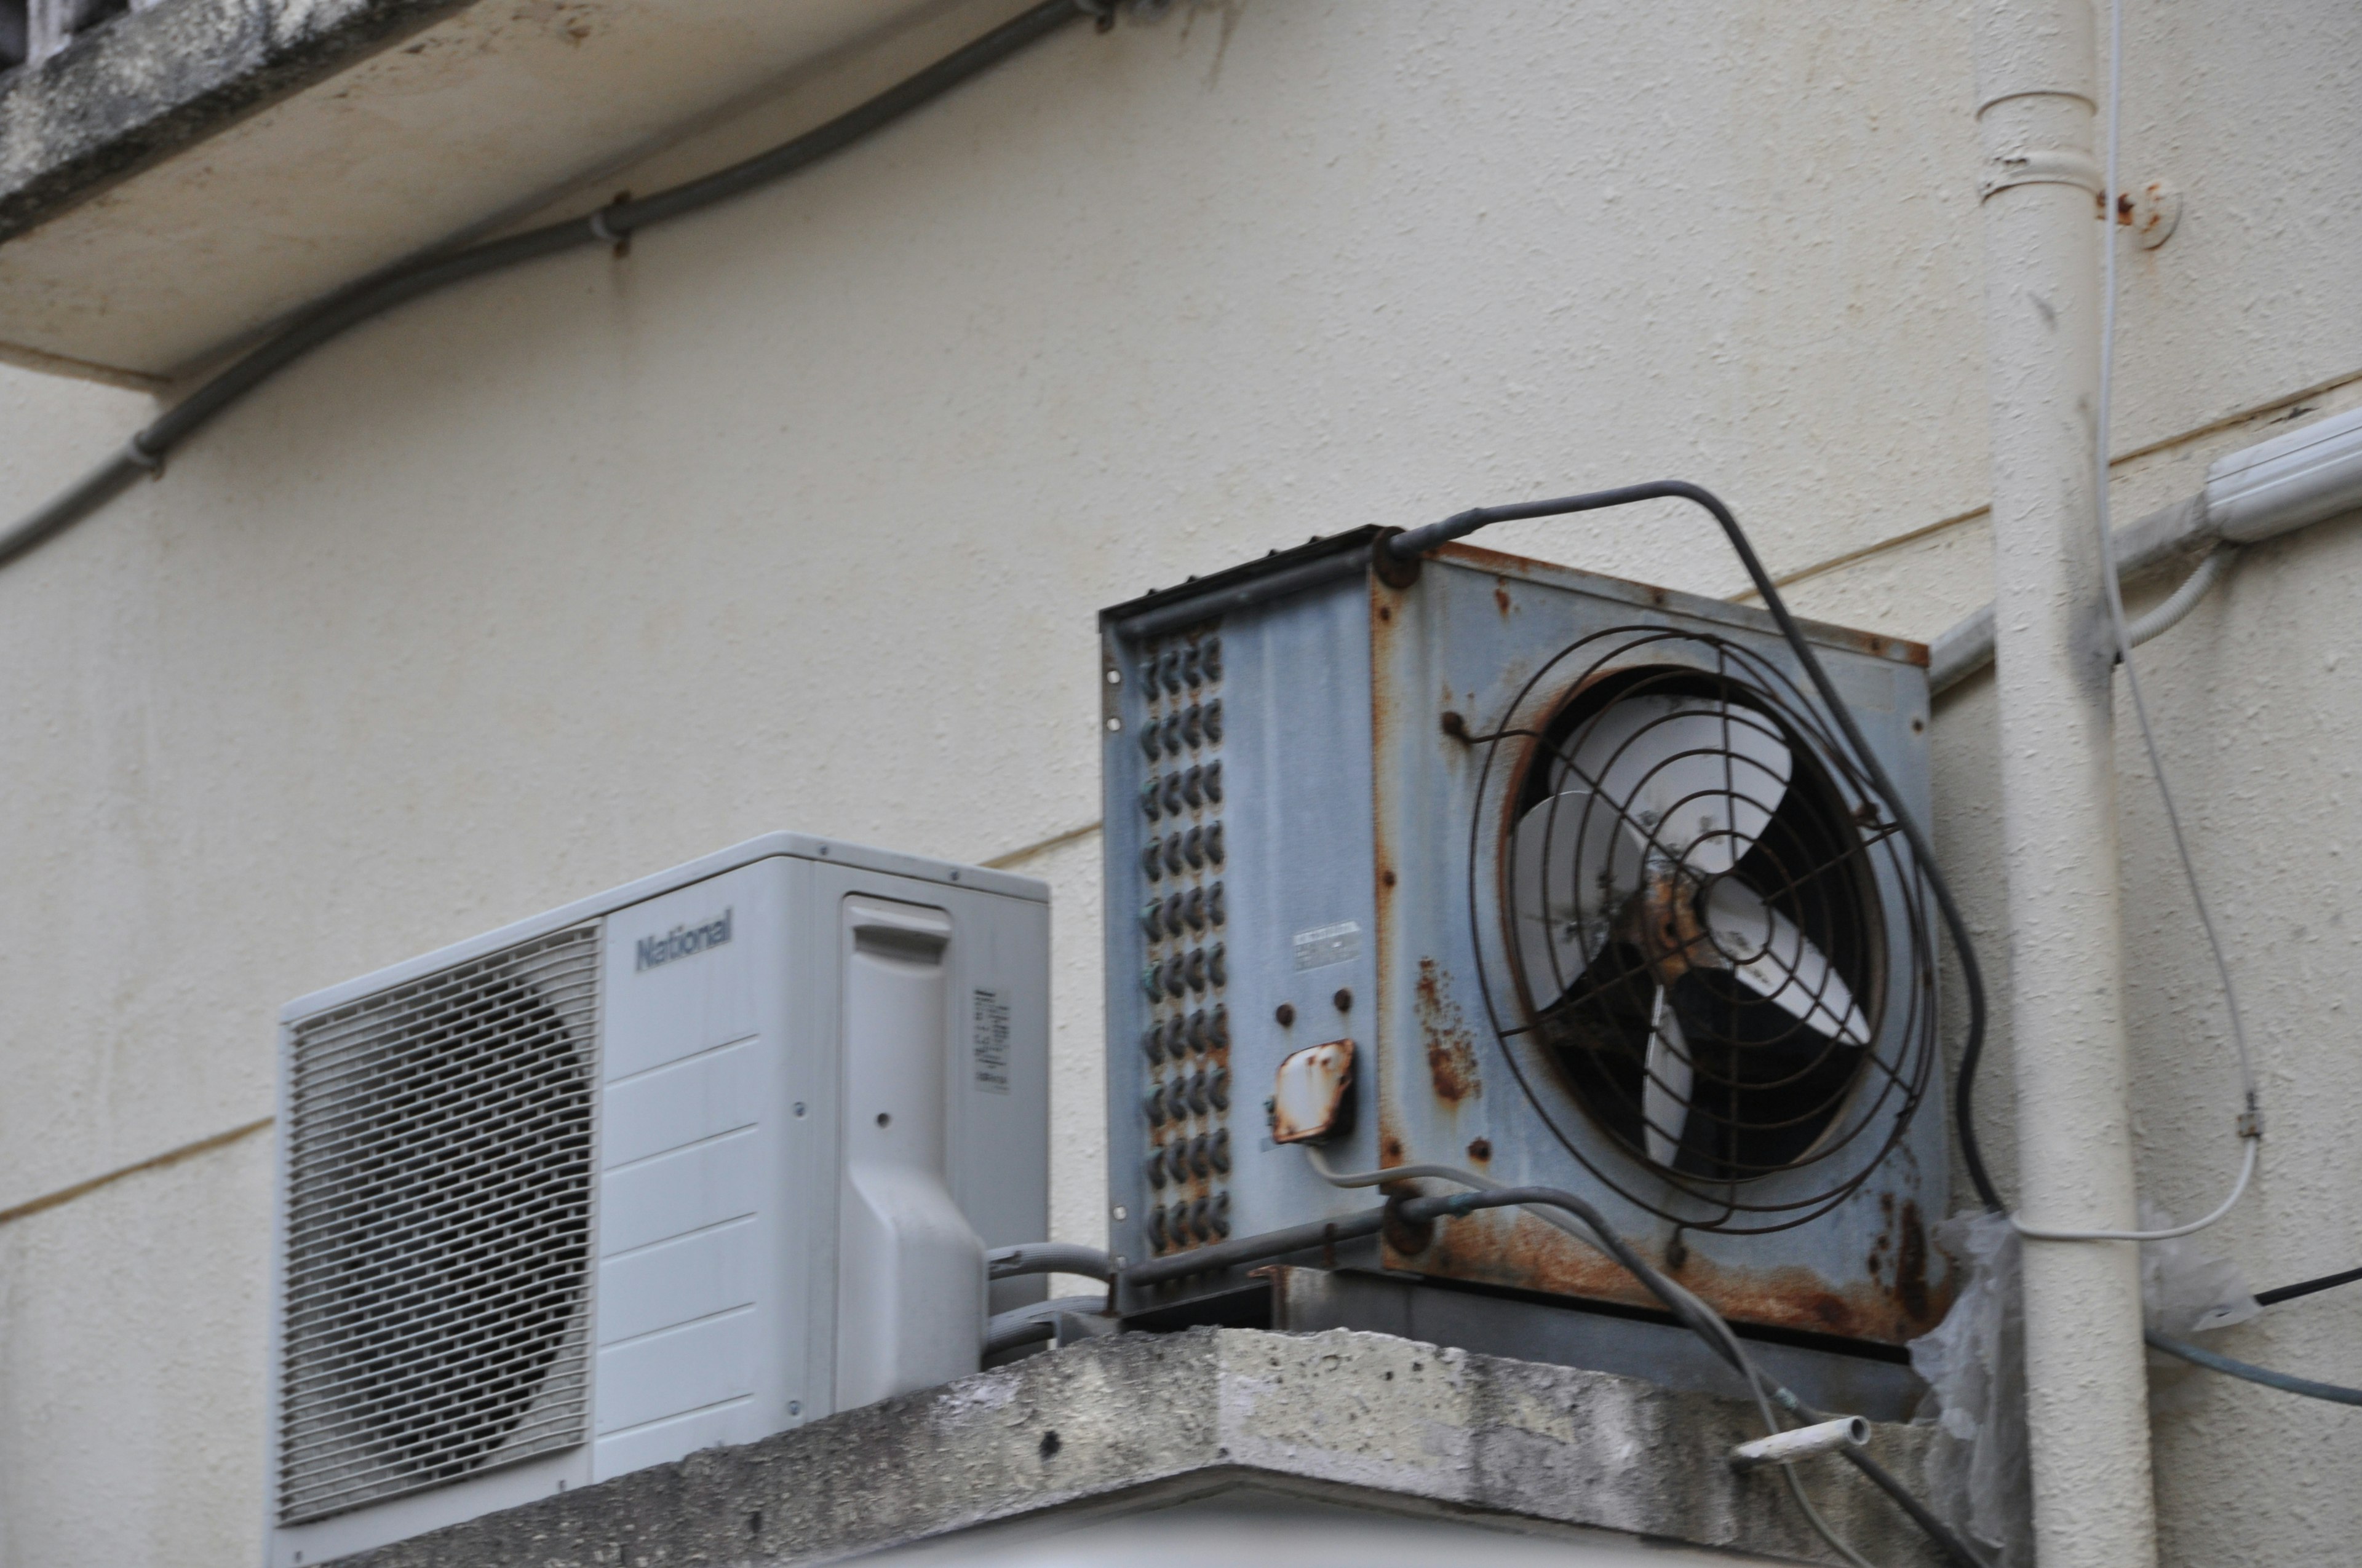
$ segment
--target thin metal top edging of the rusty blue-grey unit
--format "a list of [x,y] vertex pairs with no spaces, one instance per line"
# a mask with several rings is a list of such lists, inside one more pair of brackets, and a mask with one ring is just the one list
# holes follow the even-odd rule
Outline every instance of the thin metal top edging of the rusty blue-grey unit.
[[[1169,631],[1174,626],[1188,626],[1190,621],[1205,621],[1233,607],[1316,588],[1325,581],[1365,569],[1370,548],[1384,534],[1391,534],[1391,529],[1351,529],[1346,534],[1313,538],[1292,550],[1273,550],[1261,560],[1190,579],[1176,588],[1153,588],[1136,600],[1110,605],[1098,612],[1098,621],[1115,635],[1138,638]],[[1779,635],[1779,623],[1772,619],[1769,609],[1734,605],[1729,600],[1710,600],[1677,588],[1635,583],[1630,579],[1585,571],[1580,567],[1559,567],[1526,555],[1505,555],[1481,545],[1450,543],[1434,550],[1427,560],[1429,564],[1467,567],[1474,571],[1493,571],[1498,576],[1554,583],[1559,588],[1573,588],[1601,600],[1616,600],[1642,612],[1672,612],[1698,621],[1720,621],[1741,631]],[[1797,619],[1797,626],[1809,640],[1823,647],[1927,668],[1925,642],[1887,638],[1880,633],[1857,631],[1852,626],[1835,626],[1831,621],[1807,621],[1802,616]]]

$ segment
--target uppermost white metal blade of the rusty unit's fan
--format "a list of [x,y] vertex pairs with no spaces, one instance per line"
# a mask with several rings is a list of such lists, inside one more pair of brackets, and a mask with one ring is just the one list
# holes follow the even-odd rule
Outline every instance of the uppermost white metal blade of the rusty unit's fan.
[[1625,697],[1583,730],[1568,772],[1649,852],[1698,876],[1738,864],[1788,796],[1795,758],[1769,718],[1708,697]]

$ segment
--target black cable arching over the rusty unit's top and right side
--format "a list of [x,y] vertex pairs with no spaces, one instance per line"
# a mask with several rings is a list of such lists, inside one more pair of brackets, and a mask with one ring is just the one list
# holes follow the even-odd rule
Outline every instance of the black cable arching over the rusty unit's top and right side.
[[1977,1124],[1970,1115],[1970,1096],[1977,1089],[1977,1063],[1984,1058],[1984,971],[1977,966],[1977,947],[1968,935],[1968,921],[1960,916],[1960,907],[1951,897],[1951,886],[1944,881],[1944,871],[1937,867],[1934,845],[1927,841],[1927,831],[1911,815],[1911,805],[1904,801],[1894,779],[1887,777],[1885,765],[1880,765],[1878,753],[1871,751],[1868,741],[1861,739],[1859,725],[1854,725],[1852,711],[1845,699],[1838,697],[1838,687],[1831,682],[1828,671],[1821,668],[1821,659],[1805,642],[1802,628],[1795,616],[1788,614],[1788,602],[1781,600],[1779,588],[1772,586],[1772,574],[1764,571],[1762,560],[1755,555],[1755,545],[1748,543],[1746,529],[1738,527],[1738,517],[1722,501],[1684,479],[1653,479],[1649,484],[1625,484],[1620,489],[1590,491],[1585,496],[1561,496],[1557,501],[1519,501],[1512,505],[1479,505],[1443,522],[1431,522],[1422,529],[1410,529],[1405,534],[1394,534],[1384,541],[1389,550],[1401,562],[1412,562],[1427,550],[1453,538],[1464,538],[1476,529],[1490,527],[1495,522],[1516,522],[1526,517],[1566,517],[1568,512],[1597,512],[1613,505],[1632,505],[1637,501],[1689,501],[1705,508],[1717,524],[1722,524],[1724,538],[1731,541],[1731,550],[1738,555],[1738,564],[1748,569],[1755,581],[1755,593],[1762,595],[1764,609],[1779,621],[1781,638],[1788,640],[1790,652],[1795,652],[1797,664],[1812,678],[1814,690],[1821,701],[1828,704],[1831,718],[1838,720],[1838,730],[1845,741],[1854,749],[1861,760],[1864,772],[1878,789],[1887,810],[1894,812],[1897,827],[1904,831],[1904,841],[1911,845],[1911,855],[1918,860],[1920,869],[1927,874],[1927,888],[1934,893],[1937,909],[1944,914],[1944,928],[1951,930],[1953,954],[1960,959],[1960,982],[1968,992],[1968,1039],[1960,1046],[1960,1070],[1953,1077],[1953,1124],[1960,1133],[1960,1162],[1968,1167],[1968,1181],[1977,1188],[1977,1200],[2001,1214],[2005,1204],[2001,1202],[2001,1190],[1994,1185],[1991,1174],[1984,1169],[1984,1150],[1977,1145]]

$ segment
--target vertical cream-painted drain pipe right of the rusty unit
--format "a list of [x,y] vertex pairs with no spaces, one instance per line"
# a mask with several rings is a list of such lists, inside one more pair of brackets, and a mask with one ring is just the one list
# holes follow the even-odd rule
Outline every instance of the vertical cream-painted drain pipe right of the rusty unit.
[[[1986,423],[2020,1211],[2133,1228],[2112,645],[2100,597],[2100,165],[2090,0],[1979,0]],[[2149,1568],[2140,1259],[2024,1242],[2043,1568]]]

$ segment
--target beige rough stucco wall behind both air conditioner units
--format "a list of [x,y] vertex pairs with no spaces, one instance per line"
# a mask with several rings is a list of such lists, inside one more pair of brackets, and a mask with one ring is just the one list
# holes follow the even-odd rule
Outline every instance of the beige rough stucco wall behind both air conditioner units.
[[[2357,43],[2312,0],[2140,12],[2126,168],[2190,210],[2126,253],[2119,446],[2164,442],[2126,517],[2256,439],[2223,420],[2357,397]],[[798,827],[1051,878],[1056,1214],[1096,1240],[1091,612],[1682,475],[1776,571],[1871,550],[1800,609],[1939,631],[1989,593],[1968,116],[1965,5],[1231,0],[328,347],[0,571],[0,1211],[265,1117],[293,994]],[[144,406],[0,394],[12,501]],[[1488,543],[1738,588],[1675,510]],[[2258,1285],[2362,1259],[2357,593],[2362,529],[2315,529],[2145,659],[2265,1072],[2216,1233]],[[1998,973],[1984,682],[1937,734]],[[2142,1174],[2192,1214],[2232,1091],[2140,779],[2126,751]],[[2001,1051],[2003,1169],[2008,1103]],[[253,1561],[265,1167],[257,1133],[0,1226],[0,1563]],[[2357,1329],[2348,1292],[2223,1344],[2362,1381]],[[2353,1415],[2157,1386],[2175,1563],[2350,1551]]]

